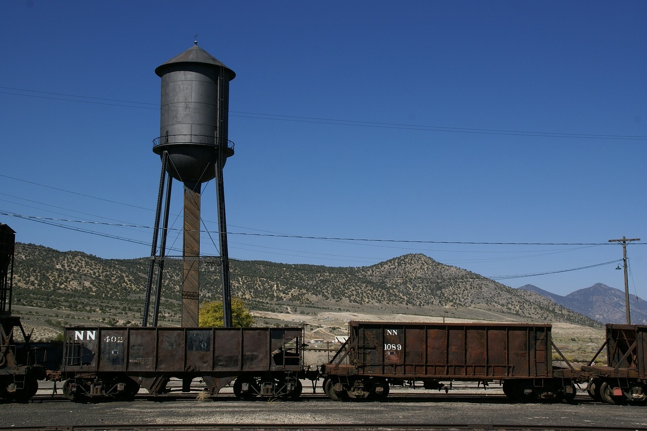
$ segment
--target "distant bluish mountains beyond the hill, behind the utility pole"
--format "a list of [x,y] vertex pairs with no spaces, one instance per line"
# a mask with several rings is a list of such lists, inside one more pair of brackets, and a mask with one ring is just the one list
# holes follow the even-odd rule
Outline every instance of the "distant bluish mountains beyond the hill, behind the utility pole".
[[[624,292],[602,283],[580,289],[566,296],[554,294],[531,284],[521,286],[523,291],[538,293],[600,323],[626,323]],[[629,295],[631,323],[647,324],[647,302],[638,296]]]

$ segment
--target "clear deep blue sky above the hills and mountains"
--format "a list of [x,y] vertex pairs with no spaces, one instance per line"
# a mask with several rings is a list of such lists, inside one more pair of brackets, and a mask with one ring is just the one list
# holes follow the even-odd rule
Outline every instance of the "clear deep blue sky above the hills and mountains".
[[[630,291],[647,297],[644,1],[30,0],[0,14],[0,222],[18,241],[150,254],[154,70],[197,33],[236,72],[230,257],[364,266],[421,252],[514,276],[619,260],[607,241],[624,235],[643,240],[628,247]],[[616,266],[501,282],[622,289]]]

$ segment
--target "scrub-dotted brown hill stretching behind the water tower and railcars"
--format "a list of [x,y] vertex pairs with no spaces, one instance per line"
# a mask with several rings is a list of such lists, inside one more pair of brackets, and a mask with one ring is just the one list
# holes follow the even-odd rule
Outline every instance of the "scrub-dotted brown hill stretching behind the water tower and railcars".
[[[14,304],[68,312],[131,316],[144,304],[149,259],[104,260],[82,252],[60,252],[16,244]],[[201,298],[221,294],[217,259],[201,266]],[[443,265],[422,254],[407,254],[369,267],[287,265],[230,261],[232,294],[252,310],[359,310],[471,318],[571,322],[598,326],[538,294],[511,289],[473,272]],[[167,260],[160,321],[177,322],[181,263]]]

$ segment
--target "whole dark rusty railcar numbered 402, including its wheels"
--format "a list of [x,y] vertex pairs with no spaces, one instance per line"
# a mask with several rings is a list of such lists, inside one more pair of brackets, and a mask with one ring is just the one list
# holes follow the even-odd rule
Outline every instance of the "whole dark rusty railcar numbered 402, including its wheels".
[[234,382],[241,399],[298,397],[302,327],[71,327],[65,330],[63,394],[132,398],[144,387],[168,391],[171,378],[190,390],[201,379],[211,395]]

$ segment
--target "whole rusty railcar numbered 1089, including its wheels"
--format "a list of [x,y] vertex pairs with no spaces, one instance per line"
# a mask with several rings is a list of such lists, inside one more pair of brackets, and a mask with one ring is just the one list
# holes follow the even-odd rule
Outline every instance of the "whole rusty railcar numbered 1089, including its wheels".
[[349,322],[322,366],[332,399],[381,398],[389,386],[448,390],[454,381],[503,381],[514,399],[572,399],[576,371],[553,367],[550,325]]

